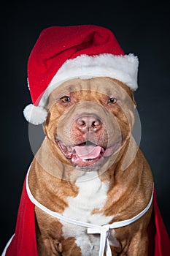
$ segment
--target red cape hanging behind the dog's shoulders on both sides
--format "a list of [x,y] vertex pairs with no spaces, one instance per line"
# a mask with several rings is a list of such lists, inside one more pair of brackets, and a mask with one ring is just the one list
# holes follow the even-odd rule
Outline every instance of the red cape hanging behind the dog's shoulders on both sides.
[[[15,228],[15,236],[7,247],[5,256],[38,256],[36,249],[36,231],[34,204],[28,198],[26,192],[26,180],[23,184],[23,192],[20,198],[18,219]],[[153,211],[149,234],[149,256],[169,256],[170,240],[166,227],[159,211],[156,194],[154,191]]]

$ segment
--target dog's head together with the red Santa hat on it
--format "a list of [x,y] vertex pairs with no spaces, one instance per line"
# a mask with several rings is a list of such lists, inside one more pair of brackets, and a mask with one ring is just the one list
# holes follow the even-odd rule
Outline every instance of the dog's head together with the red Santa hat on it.
[[33,104],[24,116],[31,124],[45,122],[48,145],[61,162],[99,170],[131,137],[138,65],[109,29],[47,28],[28,59]]

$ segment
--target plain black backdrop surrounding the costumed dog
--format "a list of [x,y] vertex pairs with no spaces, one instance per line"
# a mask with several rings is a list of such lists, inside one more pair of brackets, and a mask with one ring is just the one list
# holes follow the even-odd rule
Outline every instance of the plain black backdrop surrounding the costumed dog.
[[0,250],[15,231],[23,179],[33,154],[23,108],[31,102],[27,61],[42,29],[96,24],[111,29],[125,53],[139,56],[135,93],[142,123],[140,147],[155,180],[158,205],[170,232],[168,1],[6,1],[1,7]]

